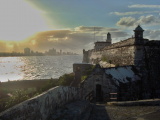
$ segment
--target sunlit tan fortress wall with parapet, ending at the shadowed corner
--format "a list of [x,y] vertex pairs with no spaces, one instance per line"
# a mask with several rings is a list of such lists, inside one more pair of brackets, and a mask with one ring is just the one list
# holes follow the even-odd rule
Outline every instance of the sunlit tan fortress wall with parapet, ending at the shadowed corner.
[[88,50],[85,51],[84,60],[87,63],[96,64],[97,61],[105,56],[107,60],[111,60],[113,64],[133,65],[134,64],[134,43],[135,38],[120,41],[104,47],[100,51]]

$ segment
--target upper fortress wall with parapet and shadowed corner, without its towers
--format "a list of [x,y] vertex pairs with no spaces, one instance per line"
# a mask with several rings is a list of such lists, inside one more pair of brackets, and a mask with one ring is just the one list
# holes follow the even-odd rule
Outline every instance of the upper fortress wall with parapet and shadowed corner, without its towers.
[[[113,64],[144,66],[144,45],[150,43],[148,39],[128,38],[126,40],[111,44],[102,50],[88,50],[83,52],[83,62],[96,64],[102,57]],[[157,43],[156,43],[157,44]]]

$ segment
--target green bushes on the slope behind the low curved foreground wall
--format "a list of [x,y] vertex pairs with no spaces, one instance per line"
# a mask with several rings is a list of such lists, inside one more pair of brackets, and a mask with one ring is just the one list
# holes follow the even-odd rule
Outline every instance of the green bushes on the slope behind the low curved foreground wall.
[[35,97],[35,96],[41,94],[42,92],[45,92],[55,86],[60,86],[60,85],[69,86],[70,83],[73,81],[73,79],[74,79],[74,75],[71,75],[71,74],[64,74],[64,75],[60,76],[58,82],[55,82],[51,78],[47,82],[47,84],[45,84],[39,91],[36,90],[35,92],[31,92],[31,93],[29,93],[28,91],[21,90],[21,89],[11,90],[11,89],[5,89],[5,88],[2,89],[1,88],[0,90],[3,93],[11,93],[13,96],[10,97],[9,100],[7,100],[5,108],[0,109],[0,112],[4,111],[5,109],[8,109],[16,104],[19,104],[29,98]]

